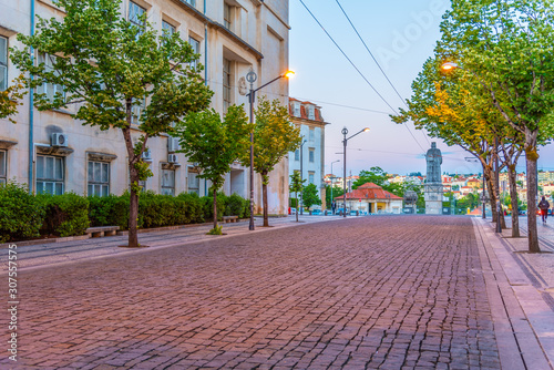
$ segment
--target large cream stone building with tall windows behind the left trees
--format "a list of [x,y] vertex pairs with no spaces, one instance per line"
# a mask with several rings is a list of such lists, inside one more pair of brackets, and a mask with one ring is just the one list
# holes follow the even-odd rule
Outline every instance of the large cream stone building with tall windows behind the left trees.
[[[62,19],[63,9],[51,0],[0,0],[0,89],[19,71],[10,62],[8,49],[21,47],[18,33],[29,34],[34,9],[42,18]],[[205,80],[215,92],[212,107],[225,112],[230,104],[248,109],[245,75],[253,69],[254,85],[279,76],[288,69],[288,0],[122,0],[121,14],[133,21],[146,13],[158,31],[178,31],[202,55]],[[40,53],[37,60],[43,59]],[[62,86],[43,86],[54,92]],[[288,81],[280,79],[257,96],[280,99],[288,104]],[[147,102],[146,102],[147,104]],[[30,109],[29,94],[13,116],[17,124],[0,120],[0,182],[14,179],[30,184],[33,192],[78,194],[122,194],[129,188],[126,150],[120,130],[100,131],[82,125],[68,110],[39,112]],[[135,112],[140,114],[138,110]],[[134,136],[138,135],[135,129]],[[146,189],[205,195],[209,184],[199,181],[184,154],[174,153],[175,141],[166,135],[148,140],[150,167],[154,174]],[[175,154],[175,156],[171,155]],[[270,174],[269,213],[285,214],[288,202],[288,162]],[[248,196],[248,168],[235,165],[224,191]],[[256,205],[261,205],[261,182],[256,175]]]

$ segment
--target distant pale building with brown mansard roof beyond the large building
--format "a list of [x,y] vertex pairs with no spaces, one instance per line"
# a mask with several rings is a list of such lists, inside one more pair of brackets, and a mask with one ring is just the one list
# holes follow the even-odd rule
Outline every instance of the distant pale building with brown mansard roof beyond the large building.
[[315,184],[325,209],[325,122],[321,107],[311,102],[301,102],[289,97],[290,121],[300,127],[302,145],[288,155],[289,181],[295,171],[306,179],[305,185]]

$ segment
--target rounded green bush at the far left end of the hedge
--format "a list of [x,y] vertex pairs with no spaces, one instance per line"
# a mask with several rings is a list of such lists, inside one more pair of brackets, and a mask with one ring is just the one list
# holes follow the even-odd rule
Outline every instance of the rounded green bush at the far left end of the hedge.
[[39,236],[44,206],[16,183],[0,185],[0,243]]

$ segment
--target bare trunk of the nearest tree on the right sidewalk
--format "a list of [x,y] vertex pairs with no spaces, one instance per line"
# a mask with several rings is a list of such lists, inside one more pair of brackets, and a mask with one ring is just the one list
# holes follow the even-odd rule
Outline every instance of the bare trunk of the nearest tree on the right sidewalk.
[[[531,135],[531,134],[530,134]],[[536,229],[536,133],[533,137],[527,137],[525,132],[525,162],[527,177],[527,235],[529,235],[529,251],[540,253],[538,232]],[[531,135],[532,136],[532,135]],[[531,141],[531,143],[529,142]]]

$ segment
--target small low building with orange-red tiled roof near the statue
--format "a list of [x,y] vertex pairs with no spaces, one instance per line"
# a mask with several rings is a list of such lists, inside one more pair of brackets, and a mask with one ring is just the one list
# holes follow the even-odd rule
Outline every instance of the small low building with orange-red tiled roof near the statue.
[[[384,191],[382,187],[367,183],[357,189],[347,193],[346,208],[348,212],[358,210],[360,214],[400,214],[402,198]],[[343,207],[343,197],[335,198],[337,209]]]

